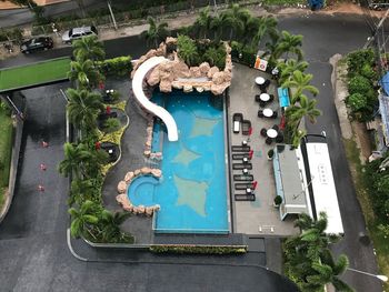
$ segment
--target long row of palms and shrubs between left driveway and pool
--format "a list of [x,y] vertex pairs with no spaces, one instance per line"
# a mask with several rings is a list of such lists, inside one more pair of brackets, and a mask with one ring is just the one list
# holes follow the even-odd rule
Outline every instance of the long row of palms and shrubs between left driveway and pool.
[[[110,73],[122,72],[123,64],[129,64],[131,59],[124,57],[113,61],[98,61],[104,52],[102,44],[94,38],[74,43],[73,49],[76,61],[71,62],[72,70],[68,75],[76,81],[78,88],[67,90],[67,112],[70,122],[81,134],[78,142],[63,145],[64,159],[58,167],[61,174],[73,179],[68,200],[72,220],[71,235],[83,236],[96,243],[133,243],[133,236],[120,230],[130,214],[110,212],[102,207],[101,188],[107,172],[108,153],[97,147],[100,138],[97,118],[104,111],[104,105],[100,93],[93,91],[103,79],[101,69],[109,70]],[[122,105],[119,103],[118,107]],[[113,127],[112,119],[109,119],[109,124]]]

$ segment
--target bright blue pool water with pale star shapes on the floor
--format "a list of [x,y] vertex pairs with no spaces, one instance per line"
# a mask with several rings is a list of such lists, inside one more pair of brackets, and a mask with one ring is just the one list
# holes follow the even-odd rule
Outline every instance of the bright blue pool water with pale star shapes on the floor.
[[163,153],[162,178],[136,179],[129,199],[136,205],[160,205],[157,232],[229,230],[223,111],[213,108],[210,98],[210,93],[182,92],[158,92],[152,98],[174,118],[179,141],[170,142],[164,125],[154,125],[152,150]]

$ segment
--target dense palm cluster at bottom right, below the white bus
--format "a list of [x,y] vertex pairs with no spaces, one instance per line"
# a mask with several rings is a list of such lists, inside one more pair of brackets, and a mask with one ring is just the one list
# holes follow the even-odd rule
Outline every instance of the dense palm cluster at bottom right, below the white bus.
[[329,245],[339,238],[325,233],[326,213],[320,213],[317,221],[308,214],[301,214],[295,225],[301,229],[301,234],[288,238],[282,246],[286,275],[302,292],[325,291],[328,283],[337,291],[353,291],[339,278],[348,268],[349,261],[345,254],[333,259]]

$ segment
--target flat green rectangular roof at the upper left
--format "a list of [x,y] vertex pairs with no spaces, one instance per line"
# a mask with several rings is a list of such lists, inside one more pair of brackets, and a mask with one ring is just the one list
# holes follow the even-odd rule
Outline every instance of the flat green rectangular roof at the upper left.
[[64,79],[69,70],[68,57],[7,68],[0,70],[0,91]]

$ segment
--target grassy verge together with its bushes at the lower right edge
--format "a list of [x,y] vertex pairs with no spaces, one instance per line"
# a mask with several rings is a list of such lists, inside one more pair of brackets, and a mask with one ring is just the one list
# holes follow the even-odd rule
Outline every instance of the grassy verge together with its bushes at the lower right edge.
[[[385,205],[378,205],[375,200],[380,202],[387,201],[385,191],[377,191],[378,182],[382,181],[387,175],[387,170],[379,172],[378,167],[382,160],[373,161],[366,165],[361,164],[359,154],[360,150],[353,140],[345,140],[345,149],[347,159],[350,162],[352,180],[356,187],[358,201],[361,205],[369,235],[372,239],[375,250],[377,252],[377,261],[380,274],[389,274],[389,245],[388,245],[388,215],[382,215]],[[377,178],[376,178],[377,177]],[[381,214],[381,215],[380,215]],[[385,283],[383,290],[387,291],[389,284]]]

